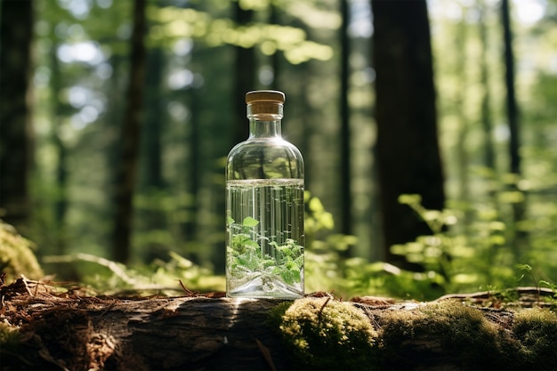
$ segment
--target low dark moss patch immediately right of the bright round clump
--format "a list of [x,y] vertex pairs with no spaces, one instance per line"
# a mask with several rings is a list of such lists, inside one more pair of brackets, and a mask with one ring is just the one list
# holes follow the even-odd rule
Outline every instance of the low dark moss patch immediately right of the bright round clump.
[[[460,302],[386,311],[381,318],[382,367],[408,369],[443,364],[456,369],[501,367],[502,332],[483,313]],[[505,369],[505,367],[504,367]]]

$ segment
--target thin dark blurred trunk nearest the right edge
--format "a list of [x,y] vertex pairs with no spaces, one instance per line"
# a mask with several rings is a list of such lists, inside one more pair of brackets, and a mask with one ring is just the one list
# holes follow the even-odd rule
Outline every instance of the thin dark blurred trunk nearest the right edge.
[[[503,22],[503,36],[505,43],[505,87],[506,87],[506,113],[509,121],[509,172],[515,176],[515,182],[511,184],[511,190],[519,190],[518,181],[521,177],[521,139],[520,139],[520,123],[519,109],[516,102],[516,93],[514,90],[514,53],[513,53],[513,32],[511,30],[511,15],[509,11],[509,0],[502,0],[501,15]],[[514,254],[520,253],[521,247],[526,245],[527,233],[520,230],[519,223],[524,220],[526,214],[525,199],[516,199],[513,203],[513,222],[514,236],[513,248]]]

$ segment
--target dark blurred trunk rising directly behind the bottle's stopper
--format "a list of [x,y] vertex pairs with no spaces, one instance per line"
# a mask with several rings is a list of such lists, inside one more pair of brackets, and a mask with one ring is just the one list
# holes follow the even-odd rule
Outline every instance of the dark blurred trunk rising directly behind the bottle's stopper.
[[[254,11],[242,9],[239,1],[233,2],[234,20],[238,26],[246,26],[253,20]],[[234,141],[246,141],[249,125],[246,118],[246,93],[255,88],[255,51],[254,48],[236,46],[234,71]]]

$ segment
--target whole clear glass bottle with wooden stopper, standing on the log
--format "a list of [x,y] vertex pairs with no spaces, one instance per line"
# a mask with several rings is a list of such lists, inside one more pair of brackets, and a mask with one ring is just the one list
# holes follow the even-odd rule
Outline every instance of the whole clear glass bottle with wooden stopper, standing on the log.
[[226,292],[303,296],[303,157],[281,135],[284,93],[246,93],[249,137],[226,163]]

